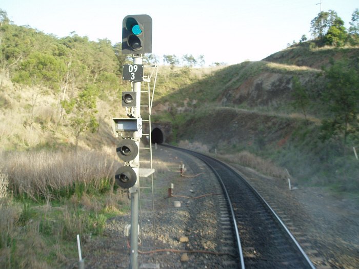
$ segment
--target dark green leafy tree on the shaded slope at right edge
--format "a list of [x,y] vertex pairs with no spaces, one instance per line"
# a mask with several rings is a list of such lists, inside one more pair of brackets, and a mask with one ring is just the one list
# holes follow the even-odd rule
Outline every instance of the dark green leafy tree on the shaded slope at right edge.
[[349,136],[359,133],[359,67],[344,60],[331,61],[324,71],[328,82],[322,99],[331,116],[322,122],[322,138],[342,136],[346,144]]

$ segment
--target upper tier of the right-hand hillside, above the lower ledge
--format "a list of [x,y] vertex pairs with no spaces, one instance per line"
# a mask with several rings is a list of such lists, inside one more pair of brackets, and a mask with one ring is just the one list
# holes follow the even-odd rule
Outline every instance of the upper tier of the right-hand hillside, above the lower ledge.
[[[357,63],[359,46],[311,48],[310,44],[294,45],[262,61],[246,61],[213,70],[199,80],[192,79],[192,83],[187,86],[177,85],[179,87],[174,91],[169,86],[165,96],[158,96],[157,104],[170,102],[179,110],[212,102],[220,106],[273,107],[275,110],[283,106],[288,108],[293,99],[293,76],[300,78],[312,94],[312,99],[315,99],[324,89],[323,67],[330,66],[330,59],[346,59],[350,64]],[[171,82],[170,79],[169,85]],[[314,101],[317,105],[317,100]],[[312,113],[320,114],[320,111],[316,109]]]

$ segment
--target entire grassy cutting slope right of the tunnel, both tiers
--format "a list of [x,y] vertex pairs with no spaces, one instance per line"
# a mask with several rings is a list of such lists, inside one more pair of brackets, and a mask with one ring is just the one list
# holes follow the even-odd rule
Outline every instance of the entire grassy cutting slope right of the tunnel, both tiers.
[[[352,147],[358,140],[355,135],[346,144],[341,135],[323,139],[323,122],[333,116],[330,101],[324,98],[331,59],[345,61],[357,73],[358,57],[357,46],[295,45],[262,61],[222,68],[169,92],[155,102],[159,104],[155,118],[173,122],[175,141],[202,143],[219,154],[249,151],[287,169],[302,183],[356,196],[359,171]],[[308,98],[305,111],[293,94],[294,78]]]

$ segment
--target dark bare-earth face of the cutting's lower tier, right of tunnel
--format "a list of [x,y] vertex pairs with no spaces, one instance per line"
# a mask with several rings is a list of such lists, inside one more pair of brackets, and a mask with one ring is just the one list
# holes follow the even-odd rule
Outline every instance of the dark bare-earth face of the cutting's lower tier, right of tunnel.
[[283,146],[296,126],[289,117],[278,117],[233,108],[220,108],[194,117],[178,130],[178,137],[200,141],[209,148],[221,144],[268,144]]

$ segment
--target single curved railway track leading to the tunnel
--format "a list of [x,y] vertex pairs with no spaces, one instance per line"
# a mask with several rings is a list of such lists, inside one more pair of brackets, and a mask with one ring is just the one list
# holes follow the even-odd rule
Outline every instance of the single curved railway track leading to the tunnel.
[[241,175],[209,156],[166,147],[201,159],[220,180],[231,215],[238,268],[315,268],[269,204]]

